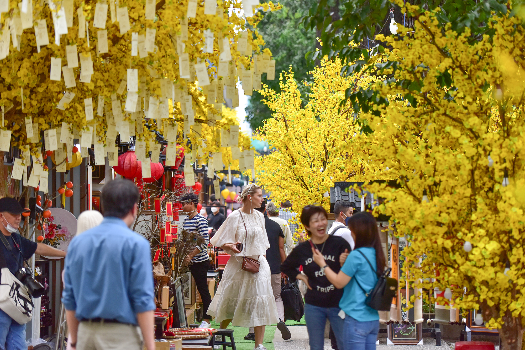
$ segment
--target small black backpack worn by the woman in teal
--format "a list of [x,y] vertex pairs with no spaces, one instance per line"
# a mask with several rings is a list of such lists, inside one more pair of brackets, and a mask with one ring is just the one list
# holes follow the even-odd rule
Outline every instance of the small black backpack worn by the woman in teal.
[[[358,251],[361,253],[363,258],[365,258],[368,265],[370,265],[372,271],[374,271],[377,275],[377,271],[372,267],[372,264],[370,264],[370,261],[366,258],[363,252],[360,250]],[[364,288],[361,287],[361,283],[359,283],[355,276],[353,278],[353,280],[358,283],[359,288],[361,288],[364,295],[366,296],[364,303],[374,310],[390,311],[392,298],[396,297],[397,295],[397,280],[395,278],[388,277],[388,274],[390,274],[391,270],[391,268],[388,268],[385,272],[383,272],[382,275],[377,276],[378,279],[374,288],[368,292],[366,292]]]

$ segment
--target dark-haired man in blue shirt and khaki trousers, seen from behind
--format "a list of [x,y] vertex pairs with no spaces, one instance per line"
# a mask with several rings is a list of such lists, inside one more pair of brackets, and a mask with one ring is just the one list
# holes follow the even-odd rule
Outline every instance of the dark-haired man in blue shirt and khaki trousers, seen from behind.
[[69,244],[62,303],[70,344],[77,350],[155,349],[151,248],[129,229],[138,201],[133,182],[106,184],[104,221]]

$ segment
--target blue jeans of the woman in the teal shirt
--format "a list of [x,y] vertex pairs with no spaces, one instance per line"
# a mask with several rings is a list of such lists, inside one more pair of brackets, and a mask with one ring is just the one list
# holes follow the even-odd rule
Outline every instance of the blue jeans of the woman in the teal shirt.
[[344,318],[344,350],[375,350],[379,320],[360,322],[352,316]]

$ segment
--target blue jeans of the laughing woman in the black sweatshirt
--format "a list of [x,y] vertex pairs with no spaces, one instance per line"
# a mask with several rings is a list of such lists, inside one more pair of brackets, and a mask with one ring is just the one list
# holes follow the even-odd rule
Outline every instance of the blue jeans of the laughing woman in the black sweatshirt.
[[338,316],[339,308],[321,308],[311,304],[304,304],[304,320],[308,330],[308,342],[311,350],[324,349],[324,327],[327,319],[330,320],[333,333],[337,339],[337,346],[343,348],[343,324],[344,320]]

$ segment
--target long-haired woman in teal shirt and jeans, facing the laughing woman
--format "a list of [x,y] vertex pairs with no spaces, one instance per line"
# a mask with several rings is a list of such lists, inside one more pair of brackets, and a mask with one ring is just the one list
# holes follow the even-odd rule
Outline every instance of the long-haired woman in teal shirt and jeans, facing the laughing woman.
[[[384,271],[385,255],[381,246],[375,217],[368,212],[354,214],[346,225],[355,235],[355,249],[346,259],[339,273],[325,267],[324,274],[335,288],[344,288],[339,307],[345,313],[344,350],[374,350],[379,332],[379,313],[368,307],[363,290],[370,291],[377,282],[376,271]],[[323,267],[327,264],[322,254],[312,248],[313,260]],[[365,258],[366,257],[366,258]],[[370,261],[369,263],[366,261]],[[372,269],[373,268],[373,269]],[[355,280],[355,281],[353,281]]]

